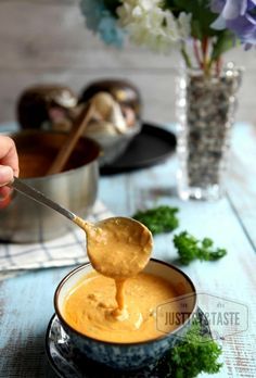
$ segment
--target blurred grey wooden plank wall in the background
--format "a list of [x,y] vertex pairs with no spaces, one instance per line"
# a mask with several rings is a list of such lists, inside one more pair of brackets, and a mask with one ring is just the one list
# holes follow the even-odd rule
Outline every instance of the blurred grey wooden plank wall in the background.
[[[15,119],[17,96],[30,85],[63,84],[79,93],[103,77],[138,86],[145,121],[175,121],[179,58],[104,46],[86,29],[79,0],[0,0],[0,123]],[[226,58],[245,68],[236,121],[256,124],[256,49],[246,54],[236,49]]]

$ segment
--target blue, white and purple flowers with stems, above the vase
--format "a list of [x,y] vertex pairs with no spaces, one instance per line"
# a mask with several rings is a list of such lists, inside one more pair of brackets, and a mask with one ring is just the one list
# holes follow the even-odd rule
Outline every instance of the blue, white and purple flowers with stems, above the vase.
[[80,8],[105,43],[121,47],[128,36],[156,52],[179,49],[188,67],[206,74],[238,43],[256,45],[255,0],[82,0]]

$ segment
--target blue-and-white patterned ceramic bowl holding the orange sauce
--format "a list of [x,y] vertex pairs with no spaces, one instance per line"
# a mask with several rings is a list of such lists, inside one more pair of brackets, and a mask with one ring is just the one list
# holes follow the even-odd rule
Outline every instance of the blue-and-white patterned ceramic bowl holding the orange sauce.
[[[184,308],[185,316],[178,318],[180,323],[175,330],[168,331],[168,328],[165,329],[165,319],[161,319],[164,313],[168,313],[169,302],[156,308],[156,314],[158,314],[156,316],[156,326],[158,329],[163,330],[163,336],[154,340],[135,343],[115,343],[99,341],[75,330],[66,323],[63,316],[65,298],[69,290],[91,270],[92,266],[86,264],[71,272],[60,282],[54,294],[55,313],[62,327],[69,337],[69,346],[74,349],[75,353],[79,353],[80,355],[84,354],[98,363],[105,364],[113,368],[123,370],[137,369],[156,362],[188,331],[191,324],[190,320],[195,316],[197,310],[194,285],[190,278],[176,266],[154,259],[150,260],[144,272],[159,276],[178,288],[180,297],[176,300],[181,301]],[[182,322],[180,320],[181,318]]]

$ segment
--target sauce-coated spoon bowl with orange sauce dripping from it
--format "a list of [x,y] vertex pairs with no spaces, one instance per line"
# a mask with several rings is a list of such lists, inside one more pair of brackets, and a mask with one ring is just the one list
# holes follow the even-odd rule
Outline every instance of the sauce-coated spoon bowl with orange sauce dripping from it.
[[[87,235],[87,252],[94,269],[115,279],[116,316],[124,316],[124,285],[141,272],[150,260],[153,239],[141,223],[113,217],[91,225],[76,217],[74,222]],[[123,314],[123,315],[121,315]]]

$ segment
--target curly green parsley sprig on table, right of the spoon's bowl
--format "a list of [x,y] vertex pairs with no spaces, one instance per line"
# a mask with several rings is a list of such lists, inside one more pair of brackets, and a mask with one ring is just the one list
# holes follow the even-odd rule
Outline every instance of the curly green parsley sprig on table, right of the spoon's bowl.
[[227,250],[225,249],[214,249],[212,239],[204,238],[200,241],[187,231],[175,235],[174,243],[178,250],[180,263],[183,265],[188,265],[196,259],[201,261],[216,261],[227,254]]

